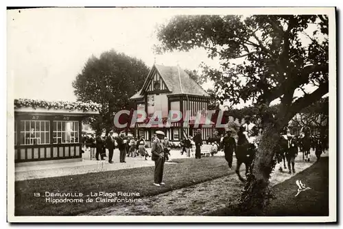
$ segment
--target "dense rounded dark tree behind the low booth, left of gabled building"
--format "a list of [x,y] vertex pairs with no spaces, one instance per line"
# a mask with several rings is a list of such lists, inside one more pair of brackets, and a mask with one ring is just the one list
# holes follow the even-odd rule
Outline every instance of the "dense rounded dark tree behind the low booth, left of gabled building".
[[115,128],[115,112],[134,106],[129,98],[143,86],[148,73],[143,61],[114,50],[105,51],[99,58],[89,58],[73,82],[74,93],[78,101],[93,101],[102,108],[98,117],[90,117],[86,122],[97,131]]

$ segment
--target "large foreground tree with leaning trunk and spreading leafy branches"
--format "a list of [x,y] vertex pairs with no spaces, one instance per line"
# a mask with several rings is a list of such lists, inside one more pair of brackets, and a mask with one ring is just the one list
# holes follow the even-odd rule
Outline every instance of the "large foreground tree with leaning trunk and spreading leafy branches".
[[[204,66],[217,99],[252,101],[259,109],[263,136],[241,196],[243,212],[260,214],[268,204],[280,131],[329,92],[328,34],[326,15],[186,15],[158,29],[159,51],[203,48],[220,61],[220,69]],[[275,99],[281,103],[274,115]]]

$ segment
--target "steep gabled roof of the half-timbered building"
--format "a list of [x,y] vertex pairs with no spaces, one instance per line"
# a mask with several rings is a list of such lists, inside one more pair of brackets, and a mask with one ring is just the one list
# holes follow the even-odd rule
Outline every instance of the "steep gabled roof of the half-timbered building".
[[[204,89],[194,80],[192,80],[189,75],[178,66],[164,66],[160,64],[154,64],[152,71],[147,75],[147,79],[144,82],[142,87],[146,88],[147,84],[150,83],[151,73],[153,69],[156,68],[158,73],[161,75],[167,88],[171,93],[169,95],[198,95],[209,97],[209,94],[204,91]],[[142,89],[133,95],[130,99],[139,99],[143,98]]]

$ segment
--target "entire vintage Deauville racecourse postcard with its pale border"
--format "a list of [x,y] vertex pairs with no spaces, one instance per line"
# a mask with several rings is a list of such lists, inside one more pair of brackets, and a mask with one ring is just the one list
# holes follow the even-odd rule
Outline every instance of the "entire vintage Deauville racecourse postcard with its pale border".
[[337,221],[335,38],[335,8],[8,8],[8,221]]

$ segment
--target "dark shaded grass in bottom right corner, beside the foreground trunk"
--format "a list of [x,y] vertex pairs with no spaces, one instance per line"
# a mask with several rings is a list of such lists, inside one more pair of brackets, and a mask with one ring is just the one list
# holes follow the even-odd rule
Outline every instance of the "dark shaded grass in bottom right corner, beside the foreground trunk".
[[[298,196],[296,180],[311,189],[302,191]],[[301,171],[289,180],[272,187],[274,199],[266,209],[268,216],[329,216],[329,158],[321,158],[320,162]],[[209,215],[233,216],[233,208],[216,210]]]

